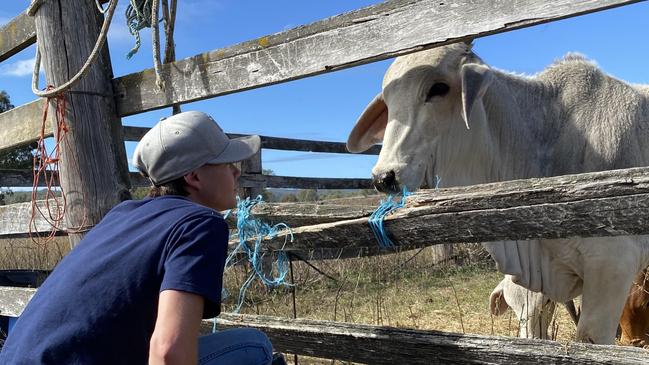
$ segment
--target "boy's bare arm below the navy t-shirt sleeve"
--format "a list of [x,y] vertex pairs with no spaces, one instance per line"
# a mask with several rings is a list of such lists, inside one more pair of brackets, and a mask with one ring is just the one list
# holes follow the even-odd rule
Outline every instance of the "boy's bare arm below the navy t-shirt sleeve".
[[198,334],[205,300],[178,290],[164,290],[158,302],[149,364],[198,363]]

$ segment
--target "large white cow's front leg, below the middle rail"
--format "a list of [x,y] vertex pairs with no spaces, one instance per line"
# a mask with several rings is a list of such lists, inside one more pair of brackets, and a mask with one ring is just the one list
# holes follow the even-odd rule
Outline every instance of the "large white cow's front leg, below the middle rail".
[[578,341],[614,343],[622,308],[636,271],[633,266],[624,259],[612,261],[605,257],[591,257],[586,260],[582,310],[577,325]]

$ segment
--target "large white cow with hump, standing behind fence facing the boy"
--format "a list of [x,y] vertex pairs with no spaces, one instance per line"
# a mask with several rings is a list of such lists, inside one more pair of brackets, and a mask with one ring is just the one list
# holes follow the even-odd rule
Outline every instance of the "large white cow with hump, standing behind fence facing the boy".
[[[351,152],[383,141],[372,169],[382,191],[416,190],[644,166],[646,86],[569,55],[533,77],[485,65],[467,44],[397,58],[351,131]],[[498,269],[557,302],[582,294],[577,336],[613,343],[646,237],[486,243]]]

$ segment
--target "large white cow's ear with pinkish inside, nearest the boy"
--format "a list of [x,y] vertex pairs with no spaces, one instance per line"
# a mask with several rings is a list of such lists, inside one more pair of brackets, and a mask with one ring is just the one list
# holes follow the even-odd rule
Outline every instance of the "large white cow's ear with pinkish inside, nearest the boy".
[[347,150],[354,153],[363,152],[383,141],[387,124],[388,106],[383,101],[383,95],[379,93],[365,108],[349,133]]

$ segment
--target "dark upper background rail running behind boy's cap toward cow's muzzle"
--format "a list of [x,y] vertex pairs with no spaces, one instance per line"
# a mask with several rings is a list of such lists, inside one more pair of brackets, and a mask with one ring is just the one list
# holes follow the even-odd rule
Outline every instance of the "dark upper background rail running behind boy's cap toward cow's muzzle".
[[[142,136],[149,130],[145,127],[124,126],[125,141],[139,141]],[[245,134],[227,133],[230,138],[246,136]],[[344,142],[327,142],[312,141],[306,139],[291,139],[281,137],[260,136],[261,147],[271,150],[285,151],[303,151],[303,152],[329,152],[329,153],[349,153]],[[365,155],[378,155],[381,152],[381,146],[372,146],[369,150],[363,152]]]

